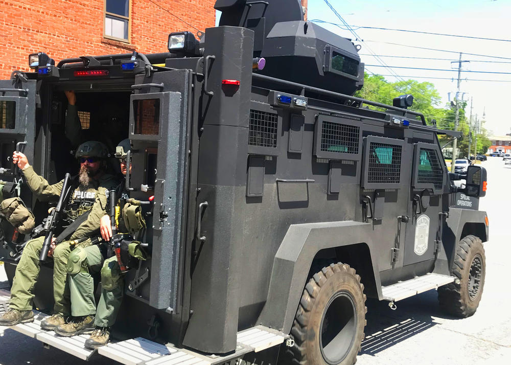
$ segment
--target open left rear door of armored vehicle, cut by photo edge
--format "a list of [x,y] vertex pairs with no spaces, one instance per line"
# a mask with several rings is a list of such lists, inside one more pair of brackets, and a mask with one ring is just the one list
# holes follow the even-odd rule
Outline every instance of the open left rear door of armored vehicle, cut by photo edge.
[[[12,164],[12,152],[19,142],[27,141],[27,144],[18,146],[23,146],[29,161],[34,161],[36,81],[27,80],[21,73],[14,75],[19,76],[11,80],[0,80],[0,180],[20,182],[19,169]],[[19,194],[30,206],[30,191],[26,188],[14,190],[13,193]],[[11,241],[17,240],[13,236],[14,229],[5,220],[1,224],[0,257],[14,257],[15,247],[14,243],[11,244]]]

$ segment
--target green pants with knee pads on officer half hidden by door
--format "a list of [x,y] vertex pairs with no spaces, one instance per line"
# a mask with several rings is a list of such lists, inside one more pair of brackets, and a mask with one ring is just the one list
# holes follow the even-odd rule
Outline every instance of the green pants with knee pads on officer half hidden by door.
[[[123,279],[121,268],[115,256],[104,259],[98,246],[83,248],[86,258],[80,272],[69,274],[71,289],[71,312],[73,316],[94,315],[98,327],[110,327],[115,323],[123,300]],[[101,298],[96,310],[94,279],[92,274],[101,271]]]

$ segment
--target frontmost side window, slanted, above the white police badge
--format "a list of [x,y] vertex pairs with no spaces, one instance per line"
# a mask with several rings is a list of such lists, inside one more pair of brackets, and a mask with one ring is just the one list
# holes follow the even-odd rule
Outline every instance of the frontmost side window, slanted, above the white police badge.
[[415,189],[432,189],[440,193],[444,186],[444,165],[441,163],[436,145],[416,143],[414,145],[413,178]]

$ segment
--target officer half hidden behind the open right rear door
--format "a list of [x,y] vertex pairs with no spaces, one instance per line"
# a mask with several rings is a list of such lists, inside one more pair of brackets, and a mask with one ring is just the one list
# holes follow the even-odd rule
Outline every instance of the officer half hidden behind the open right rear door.
[[[115,152],[115,157],[119,158],[121,171],[124,175],[126,175],[127,171],[127,152],[130,149],[130,142],[126,139],[119,143]],[[131,170],[131,164],[129,168]],[[129,194],[125,189],[124,181],[116,191],[116,195],[119,197],[115,209],[115,222],[118,226],[118,231],[129,233],[132,237],[135,237],[145,227],[140,206],[132,206],[126,201]],[[101,218],[100,232],[104,239],[104,244],[108,244],[108,241],[112,238],[112,230],[110,217],[106,212]],[[115,255],[108,257],[104,244],[74,250],[71,256],[69,256],[67,264],[73,316],[96,315],[94,321],[95,329],[90,338],[85,341],[85,347],[90,349],[95,349],[108,343],[110,327],[115,323],[115,317],[117,317],[123,299],[124,285],[118,258]],[[135,258],[142,260],[147,258],[147,254],[145,254],[140,242],[132,241],[129,243],[129,252]],[[92,279],[91,274],[98,272],[100,267],[102,292],[96,310],[94,279]],[[83,326],[68,323],[58,326],[55,332],[61,336],[68,337],[84,333],[85,330],[87,329]]]

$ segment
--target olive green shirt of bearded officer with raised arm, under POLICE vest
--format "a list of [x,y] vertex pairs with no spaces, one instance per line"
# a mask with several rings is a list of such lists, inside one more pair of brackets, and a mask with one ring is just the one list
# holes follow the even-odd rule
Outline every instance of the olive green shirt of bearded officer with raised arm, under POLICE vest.
[[[27,185],[39,198],[44,200],[58,200],[64,180],[50,185],[43,177],[35,173],[32,166],[23,171]],[[87,219],[82,222],[71,236],[71,240],[89,236],[99,230],[100,219],[107,209],[107,195],[109,189],[114,189],[118,181],[113,175],[103,174],[98,180],[92,180],[89,187],[78,186],[72,192],[65,207],[64,219],[71,223],[81,214],[91,210]]]

